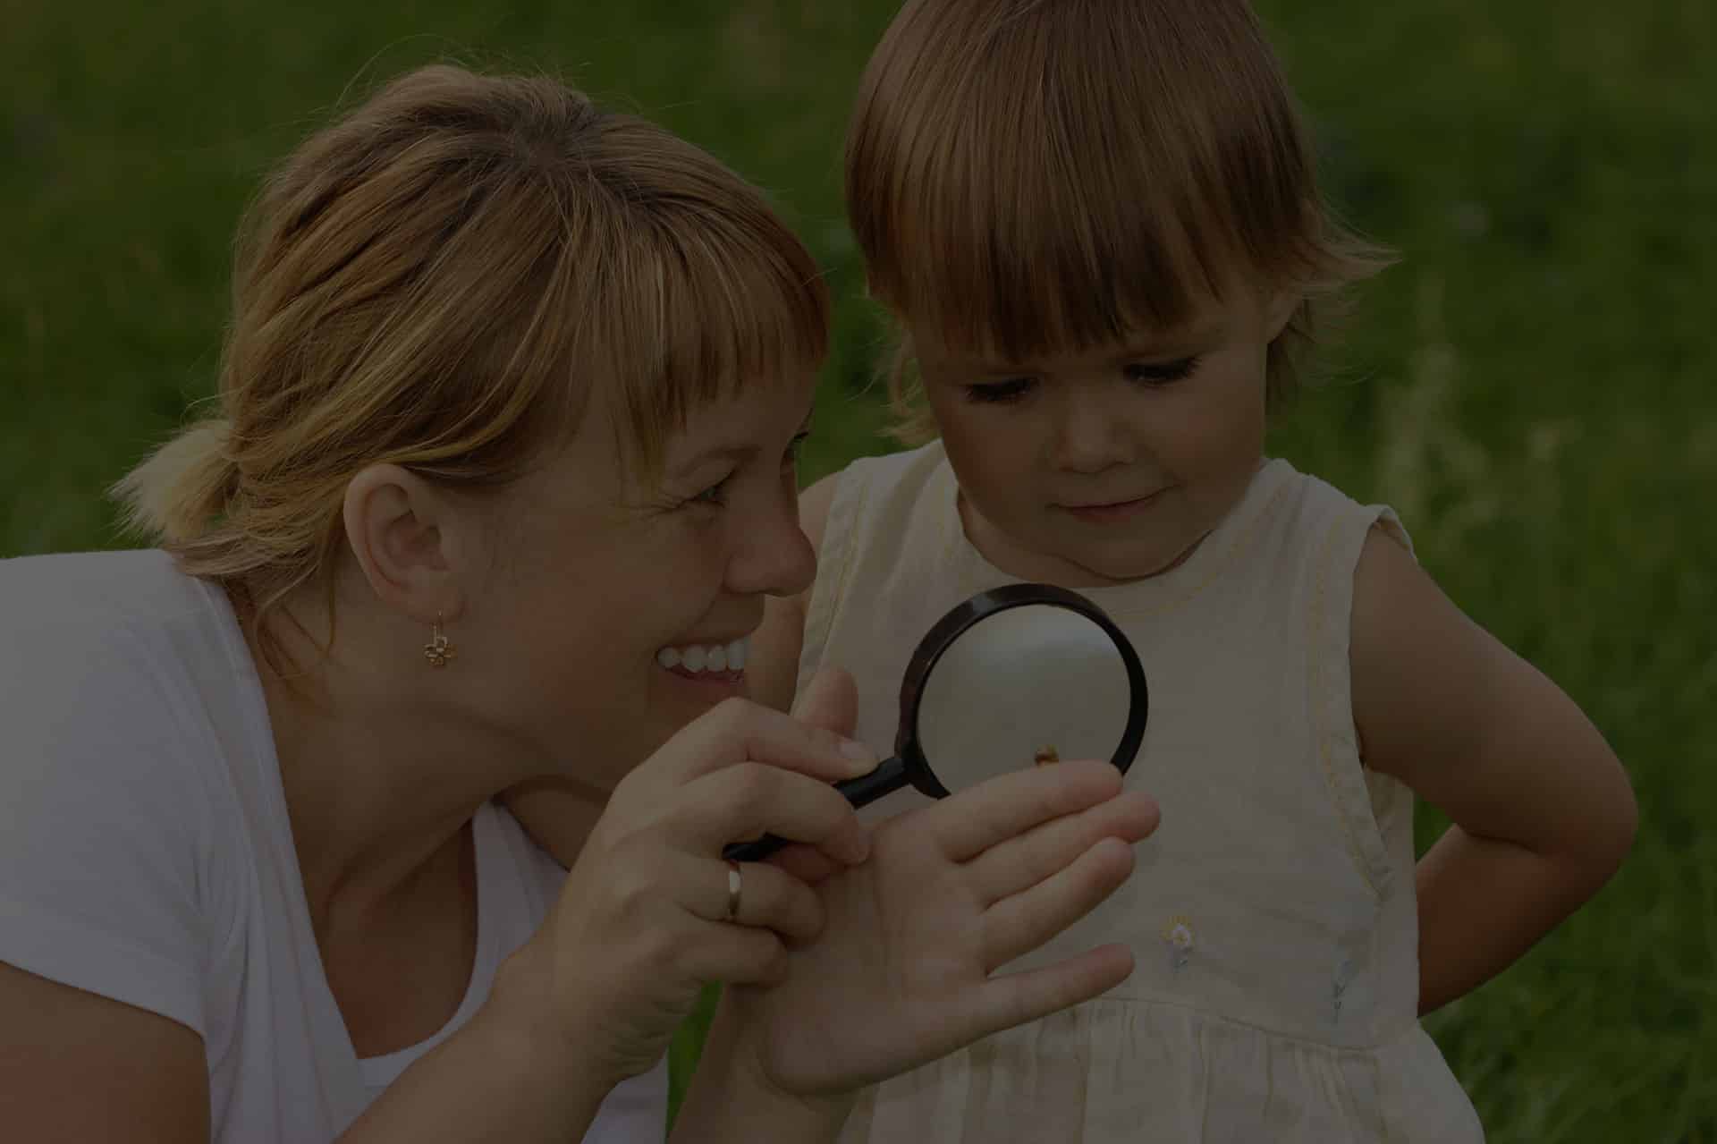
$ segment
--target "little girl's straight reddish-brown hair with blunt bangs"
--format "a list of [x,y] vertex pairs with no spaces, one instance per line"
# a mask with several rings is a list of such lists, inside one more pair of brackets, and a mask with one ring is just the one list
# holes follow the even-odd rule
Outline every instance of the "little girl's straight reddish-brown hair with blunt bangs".
[[[860,82],[846,210],[871,295],[1008,361],[1173,330],[1240,271],[1305,295],[1269,388],[1386,251],[1338,225],[1243,0],[907,0]],[[896,435],[936,435],[905,338]]]

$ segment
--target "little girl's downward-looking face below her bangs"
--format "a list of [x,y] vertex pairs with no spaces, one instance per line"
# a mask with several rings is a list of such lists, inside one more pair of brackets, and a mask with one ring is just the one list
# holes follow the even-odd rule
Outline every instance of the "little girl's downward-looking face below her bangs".
[[1034,362],[908,323],[972,543],[1070,587],[1180,563],[1262,462],[1265,359],[1291,313],[1286,297],[1210,302],[1174,335]]

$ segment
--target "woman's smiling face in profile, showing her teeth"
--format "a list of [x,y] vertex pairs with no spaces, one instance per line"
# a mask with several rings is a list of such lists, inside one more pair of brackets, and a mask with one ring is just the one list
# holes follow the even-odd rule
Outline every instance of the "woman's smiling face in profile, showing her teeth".
[[743,691],[764,598],[816,574],[793,471],[812,390],[759,383],[694,409],[656,483],[628,476],[592,402],[572,443],[505,493],[458,668],[486,673],[486,715],[553,773],[606,792]]

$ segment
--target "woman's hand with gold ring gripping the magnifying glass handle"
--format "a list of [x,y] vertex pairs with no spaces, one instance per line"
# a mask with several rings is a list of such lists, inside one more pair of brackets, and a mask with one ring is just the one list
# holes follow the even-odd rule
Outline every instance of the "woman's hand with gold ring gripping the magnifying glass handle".
[[503,969],[496,1001],[551,1051],[575,1051],[613,1082],[647,1070],[704,984],[780,981],[786,945],[822,929],[817,895],[774,866],[745,867],[728,921],[721,849],[773,831],[862,862],[867,833],[829,783],[872,766],[840,735],[780,711],[738,699],[714,708],[615,787],[553,912]]

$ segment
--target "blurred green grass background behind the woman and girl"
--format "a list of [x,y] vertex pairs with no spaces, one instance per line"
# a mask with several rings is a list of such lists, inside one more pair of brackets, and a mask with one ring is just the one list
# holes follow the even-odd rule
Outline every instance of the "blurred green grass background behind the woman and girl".
[[[0,0],[0,555],[120,543],[101,490],[209,392],[258,177],[431,58],[560,70],[767,187],[840,299],[805,479],[884,452],[840,141],[891,9]],[[1717,5],[1260,9],[1334,199],[1403,253],[1274,448],[1394,503],[1641,802],[1602,895],[1429,1027],[1492,1141],[1717,1141]]]

